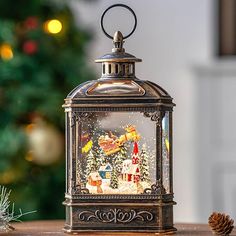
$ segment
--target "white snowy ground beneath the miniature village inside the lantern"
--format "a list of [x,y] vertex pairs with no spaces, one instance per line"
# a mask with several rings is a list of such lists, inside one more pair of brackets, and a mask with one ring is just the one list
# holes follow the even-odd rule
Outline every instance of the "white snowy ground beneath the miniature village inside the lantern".
[[[133,182],[127,182],[119,179],[119,187],[117,189],[112,189],[110,186],[110,179],[103,179],[101,188],[103,194],[139,194],[142,193],[145,188],[150,188],[150,183],[139,182],[137,185]],[[90,193],[97,194],[97,187],[91,186],[87,183],[86,188]]]

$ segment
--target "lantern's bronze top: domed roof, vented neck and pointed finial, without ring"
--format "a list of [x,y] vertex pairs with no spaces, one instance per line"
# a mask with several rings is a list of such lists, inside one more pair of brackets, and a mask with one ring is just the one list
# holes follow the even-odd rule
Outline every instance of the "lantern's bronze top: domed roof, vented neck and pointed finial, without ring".
[[125,52],[123,36],[117,31],[112,53],[96,60],[102,63],[102,76],[77,86],[65,99],[65,108],[153,107],[172,109],[171,96],[159,85],[136,78],[135,62],[141,59]]

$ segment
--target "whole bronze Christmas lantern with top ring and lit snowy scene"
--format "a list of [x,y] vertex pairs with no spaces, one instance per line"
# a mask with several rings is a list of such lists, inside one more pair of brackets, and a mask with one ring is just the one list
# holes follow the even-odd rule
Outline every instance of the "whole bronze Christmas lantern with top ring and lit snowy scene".
[[[116,4],[107,10],[115,6],[130,10],[136,27],[132,9]],[[114,34],[112,52],[96,60],[102,65],[101,78],[80,84],[63,105],[66,232],[176,230],[174,104],[159,85],[136,78],[135,63],[141,59],[125,52],[128,36]]]

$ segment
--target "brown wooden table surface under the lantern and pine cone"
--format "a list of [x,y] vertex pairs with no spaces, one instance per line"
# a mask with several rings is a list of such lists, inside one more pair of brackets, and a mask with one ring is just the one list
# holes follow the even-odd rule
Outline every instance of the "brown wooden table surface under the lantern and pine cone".
[[[15,228],[14,231],[8,233],[0,233],[2,235],[19,235],[19,236],[30,236],[30,235],[50,235],[50,236],[65,236],[62,228],[64,225],[63,220],[52,220],[52,221],[31,221],[22,223],[13,223],[12,226]],[[178,229],[176,235],[213,235],[207,225],[201,224],[176,224],[175,227]],[[80,233],[82,236],[89,235],[128,235],[128,236],[154,236],[154,233]],[[234,230],[231,236],[236,236],[236,230]]]

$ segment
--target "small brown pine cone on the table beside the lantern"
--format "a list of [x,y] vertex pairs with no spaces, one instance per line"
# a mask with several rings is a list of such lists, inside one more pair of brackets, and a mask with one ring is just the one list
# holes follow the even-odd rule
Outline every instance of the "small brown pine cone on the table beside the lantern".
[[234,221],[229,215],[213,212],[208,219],[208,224],[217,235],[229,235],[234,228]]

